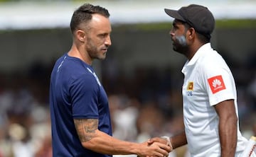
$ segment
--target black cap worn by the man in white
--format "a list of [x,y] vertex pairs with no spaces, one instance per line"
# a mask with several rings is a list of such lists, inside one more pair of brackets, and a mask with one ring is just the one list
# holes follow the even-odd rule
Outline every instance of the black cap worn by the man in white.
[[183,6],[178,11],[164,8],[164,11],[179,21],[188,23],[196,32],[210,37],[215,27],[213,14],[206,8],[197,4]]

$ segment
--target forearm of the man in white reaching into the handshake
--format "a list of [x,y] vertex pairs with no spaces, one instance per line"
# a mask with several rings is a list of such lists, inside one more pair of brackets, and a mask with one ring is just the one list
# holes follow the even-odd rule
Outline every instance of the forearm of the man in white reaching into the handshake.
[[185,130],[179,132],[178,134],[176,134],[174,136],[171,136],[170,141],[171,141],[171,145],[172,145],[173,149],[176,149],[180,146],[186,145],[187,140],[186,140]]

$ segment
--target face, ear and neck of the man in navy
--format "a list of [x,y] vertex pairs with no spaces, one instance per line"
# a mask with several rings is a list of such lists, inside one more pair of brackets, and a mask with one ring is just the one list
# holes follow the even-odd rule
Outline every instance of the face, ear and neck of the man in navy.
[[[105,59],[107,49],[110,47],[110,33],[112,31],[109,18],[94,14],[89,23],[75,31],[73,46],[68,55],[78,57],[87,64],[92,65],[93,59]],[[86,31],[89,30],[89,31]]]

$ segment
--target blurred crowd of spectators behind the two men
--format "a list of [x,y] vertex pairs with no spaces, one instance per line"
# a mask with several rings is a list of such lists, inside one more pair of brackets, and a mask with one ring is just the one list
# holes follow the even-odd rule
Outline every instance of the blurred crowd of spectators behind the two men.
[[[238,88],[240,129],[256,135],[256,57],[245,64],[225,58]],[[116,61],[117,62],[117,61]],[[171,136],[183,128],[180,69],[137,67],[126,73],[102,62],[102,84],[109,96],[113,136],[142,142]],[[48,87],[53,64],[32,64],[27,71],[0,74],[0,157],[50,157]],[[169,156],[183,157],[186,146]]]

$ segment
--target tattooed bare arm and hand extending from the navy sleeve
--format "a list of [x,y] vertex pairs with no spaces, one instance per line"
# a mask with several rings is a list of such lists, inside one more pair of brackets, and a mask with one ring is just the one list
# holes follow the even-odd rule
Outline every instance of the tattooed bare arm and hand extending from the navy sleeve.
[[122,141],[105,134],[97,129],[97,119],[75,119],[75,129],[78,132],[79,139],[85,149],[103,154],[137,154],[139,156],[167,156],[171,151],[170,146],[166,144],[151,144],[147,142],[137,144],[129,141]]

